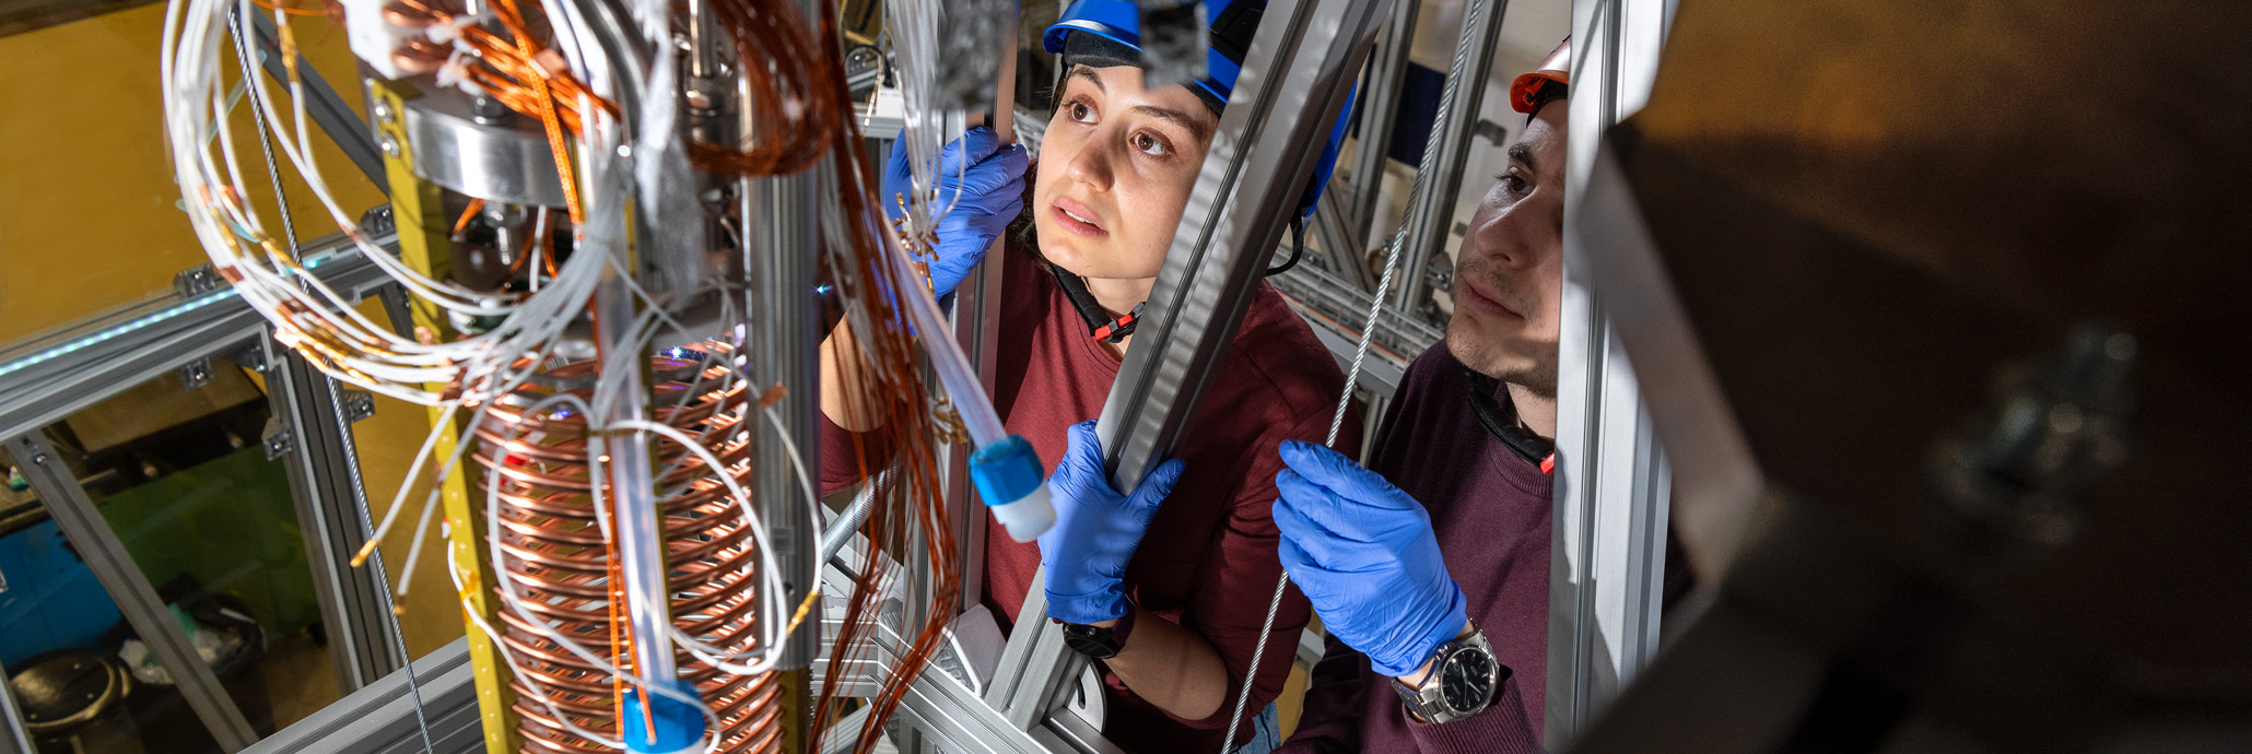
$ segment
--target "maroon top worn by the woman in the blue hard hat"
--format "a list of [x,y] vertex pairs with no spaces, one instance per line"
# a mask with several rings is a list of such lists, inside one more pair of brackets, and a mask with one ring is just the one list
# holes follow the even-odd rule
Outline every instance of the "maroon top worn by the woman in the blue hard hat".
[[[1119,360],[1088,335],[1085,320],[1063,297],[1029,252],[1000,254],[1002,311],[993,410],[1013,434],[1031,441],[1049,468],[1070,443],[1070,425],[1094,419],[1117,380]],[[1250,671],[1281,563],[1272,520],[1277,446],[1286,439],[1320,443],[1338,405],[1344,376],[1313,329],[1281,295],[1259,284],[1243,324],[1205,387],[1196,419],[1173,457],[1182,477],[1158,509],[1126,567],[1126,594],[1144,610],[1203,635],[1227,664],[1227,702],[1203,720],[1158,709],[1103,673],[1110,693],[1103,738],[1128,752],[1218,752],[1227,711]],[[849,434],[824,421],[824,495],[856,479]],[[1340,448],[1358,448],[1358,421],[1347,419]],[[1018,621],[1025,590],[1040,565],[1036,542],[1016,542],[986,515],[984,601]],[[1272,702],[1290,675],[1293,648],[1308,619],[1306,599],[1290,587],[1268,637],[1266,659],[1245,707],[1236,743],[1252,734],[1250,718]],[[1038,617],[1045,619],[1045,617]]]

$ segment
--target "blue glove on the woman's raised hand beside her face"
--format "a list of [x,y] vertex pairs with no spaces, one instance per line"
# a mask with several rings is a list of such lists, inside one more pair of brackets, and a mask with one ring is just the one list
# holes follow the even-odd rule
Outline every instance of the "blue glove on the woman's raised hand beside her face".
[[[962,169],[964,158],[968,171]],[[1025,146],[1004,149],[993,128],[977,126],[939,149],[937,173],[939,196],[930,200],[930,212],[944,216],[932,230],[939,241],[937,259],[930,261],[930,290],[948,295],[971,277],[971,268],[1009,230],[1009,221],[1025,212]],[[883,167],[883,214],[896,221],[899,198],[912,191],[908,140],[896,140],[892,160]]]

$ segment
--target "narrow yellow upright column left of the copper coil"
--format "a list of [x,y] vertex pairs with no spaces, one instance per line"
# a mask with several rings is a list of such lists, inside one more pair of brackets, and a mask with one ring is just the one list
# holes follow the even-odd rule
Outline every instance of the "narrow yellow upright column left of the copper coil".
[[[392,221],[399,225],[399,259],[423,275],[444,279],[448,263],[446,236],[450,227],[439,187],[414,176],[414,153],[405,133],[405,101],[419,92],[405,83],[383,79],[369,79],[367,92],[376,115],[376,142],[383,146],[385,176],[392,182]],[[446,313],[437,304],[412,297],[410,311],[417,338],[446,340],[455,335],[453,324],[446,322]],[[435,385],[435,389],[441,387]],[[441,425],[432,425],[432,432],[439,432],[432,455],[439,459],[453,457],[455,443],[462,441],[466,416],[459,412],[448,416],[446,410],[432,407],[430,421],[444,421]],[[439,500],[446,506],[446,549],[450,560],[466,569],[462,574],[462,605],[468,612],[464,614],[468,623],[468,664],[477,677],[477,716],[484,725],[484,749],[502,754],[520,749],[516,725],[509,720],[516,693],[509,689],[509,666],[500,662],[493,637],[475,623],[484,621],[484,626],[495,626],[498,630],[495,605],[486,590],[493,563],[484,558],[484,518],[477,515],[468,500],[471,475],[475,475],[475,464],[462,464],[453,473],[446,473]]]

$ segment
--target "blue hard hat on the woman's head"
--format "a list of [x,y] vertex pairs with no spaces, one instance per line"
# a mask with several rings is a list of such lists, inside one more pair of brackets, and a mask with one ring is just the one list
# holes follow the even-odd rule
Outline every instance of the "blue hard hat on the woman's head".
[[[1252,47],[1252,34],[1259,29],[1259,16],[1266,14],[1266,0],[1203,2],[1205,18],[1209,18],[1209,52],[1205,54],[1205,77],[1196,79],[1196,86],[1225,104],[1227,95],[1236,88],[1236,77],[1243,74],[1243,54]],[[1133,0],[1076,0],[1040,34],[1040,47],[1063,54],[1065,41],[1072,34],[1094,34],[1142,52],[1142,7]],[[1351,124],[1353,99],[1358,95],[1360,88],[1356,86],[1344,97],[1344,108],[1338,110],[1338,124],[1329,128],[1329,144],[1322,146],[1322,160],[1313,167],[1313,185],[1306,187],[1306,196],[1297,205],[1299,216],[1313,216],[1313,205],[1322,198],[1322,187],[1329,185],[1329,173],[1338,167],[1338,146],[1344,144],[1344,131]]]

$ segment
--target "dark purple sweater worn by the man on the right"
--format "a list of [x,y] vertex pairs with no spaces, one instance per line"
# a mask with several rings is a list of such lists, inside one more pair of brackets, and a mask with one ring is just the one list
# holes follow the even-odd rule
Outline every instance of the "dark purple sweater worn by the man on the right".
[[1502,695],[1464,720],[1419,722],[1392,680],[1369,671],[1367,655],[1329,639],[1306,686],[1306,716],[1279,752],[1540,752],[1554,488],[1540,468],[1486,434],[1468,389],[1446,342],[1423,351],[1401,376],[1367,466],[1430,511],[1471,621],[1511,671]]

